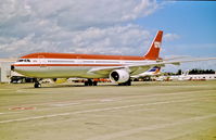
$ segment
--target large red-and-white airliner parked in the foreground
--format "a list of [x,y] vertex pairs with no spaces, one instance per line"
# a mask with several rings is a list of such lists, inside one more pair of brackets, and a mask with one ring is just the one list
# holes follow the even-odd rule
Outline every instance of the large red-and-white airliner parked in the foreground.
[[148,52],[142,56],[100,55],[39,52],[21,56],[11,69],[35,78],[35,88],[41,87],[42,78],[87,78],[85,86],[97,86],[94,78],[110,78],[119,86],[130,86],[130,77],[152,66],[179,65],[181,62],[215,60],[216,58],[163,61],[160,58],[163,30],[158,30]]

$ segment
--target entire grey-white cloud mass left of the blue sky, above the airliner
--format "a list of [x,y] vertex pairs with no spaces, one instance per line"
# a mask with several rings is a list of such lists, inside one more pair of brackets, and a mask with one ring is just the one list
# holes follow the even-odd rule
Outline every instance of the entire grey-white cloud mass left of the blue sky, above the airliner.
[[3,0],[0,58],[38,51],[143,54],[151,34],[131,22],[157,8],[156,0]]

